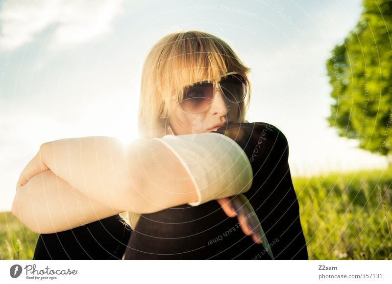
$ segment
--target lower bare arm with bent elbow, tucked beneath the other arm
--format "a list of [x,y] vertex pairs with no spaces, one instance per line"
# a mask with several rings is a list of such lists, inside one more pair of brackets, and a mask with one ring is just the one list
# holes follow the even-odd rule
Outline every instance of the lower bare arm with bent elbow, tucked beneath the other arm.
[[50,170],[34,175],[16,193],[12,213],[34,232],[69,230],[121,213],[81,194]]

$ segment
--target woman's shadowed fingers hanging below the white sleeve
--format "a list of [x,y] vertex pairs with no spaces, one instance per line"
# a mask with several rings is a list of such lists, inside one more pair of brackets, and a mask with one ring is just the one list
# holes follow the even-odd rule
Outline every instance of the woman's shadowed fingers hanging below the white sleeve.
[[217,201],[227,216],[237,216],[245,235],[252,236],[252,240],[256,243],[263,243],[262,235],[264,233],[261,229],[260,222],[249,200],[244,195],[240,194],[233,198],[220,198]]

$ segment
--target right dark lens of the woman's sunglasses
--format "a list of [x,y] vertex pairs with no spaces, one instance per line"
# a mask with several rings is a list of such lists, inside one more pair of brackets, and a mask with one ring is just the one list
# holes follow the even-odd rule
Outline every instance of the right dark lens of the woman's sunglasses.
[[221,88],[227,99],[233,103],[242,102],[246,95],[245,78],[240,74],[231,74],[220,82]]

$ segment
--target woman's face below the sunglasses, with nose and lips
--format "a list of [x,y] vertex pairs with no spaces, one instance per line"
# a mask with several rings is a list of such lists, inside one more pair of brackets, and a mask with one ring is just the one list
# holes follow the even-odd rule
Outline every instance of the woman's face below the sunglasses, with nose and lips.
[[[174,114],[176,114],[178,119],[175,118]],[[198,134],[215,131],[226,124],[236,123],[239,116],[240,108],[238,103],[228,101],[221,90],[218,89],[210,107],[195,114],[183,112],[178,103],[172,100],[169,125],[175,135]]]

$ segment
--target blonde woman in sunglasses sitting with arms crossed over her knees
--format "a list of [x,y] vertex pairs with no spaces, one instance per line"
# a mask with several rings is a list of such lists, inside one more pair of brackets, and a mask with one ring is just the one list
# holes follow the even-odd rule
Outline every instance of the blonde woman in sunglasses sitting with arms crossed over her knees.
[[287,140],[245,120],[249,70],[205,32],[155,44],[141,138],[44,143],[23,170],[12,211],[41,233],[34,259],[307,259]]

